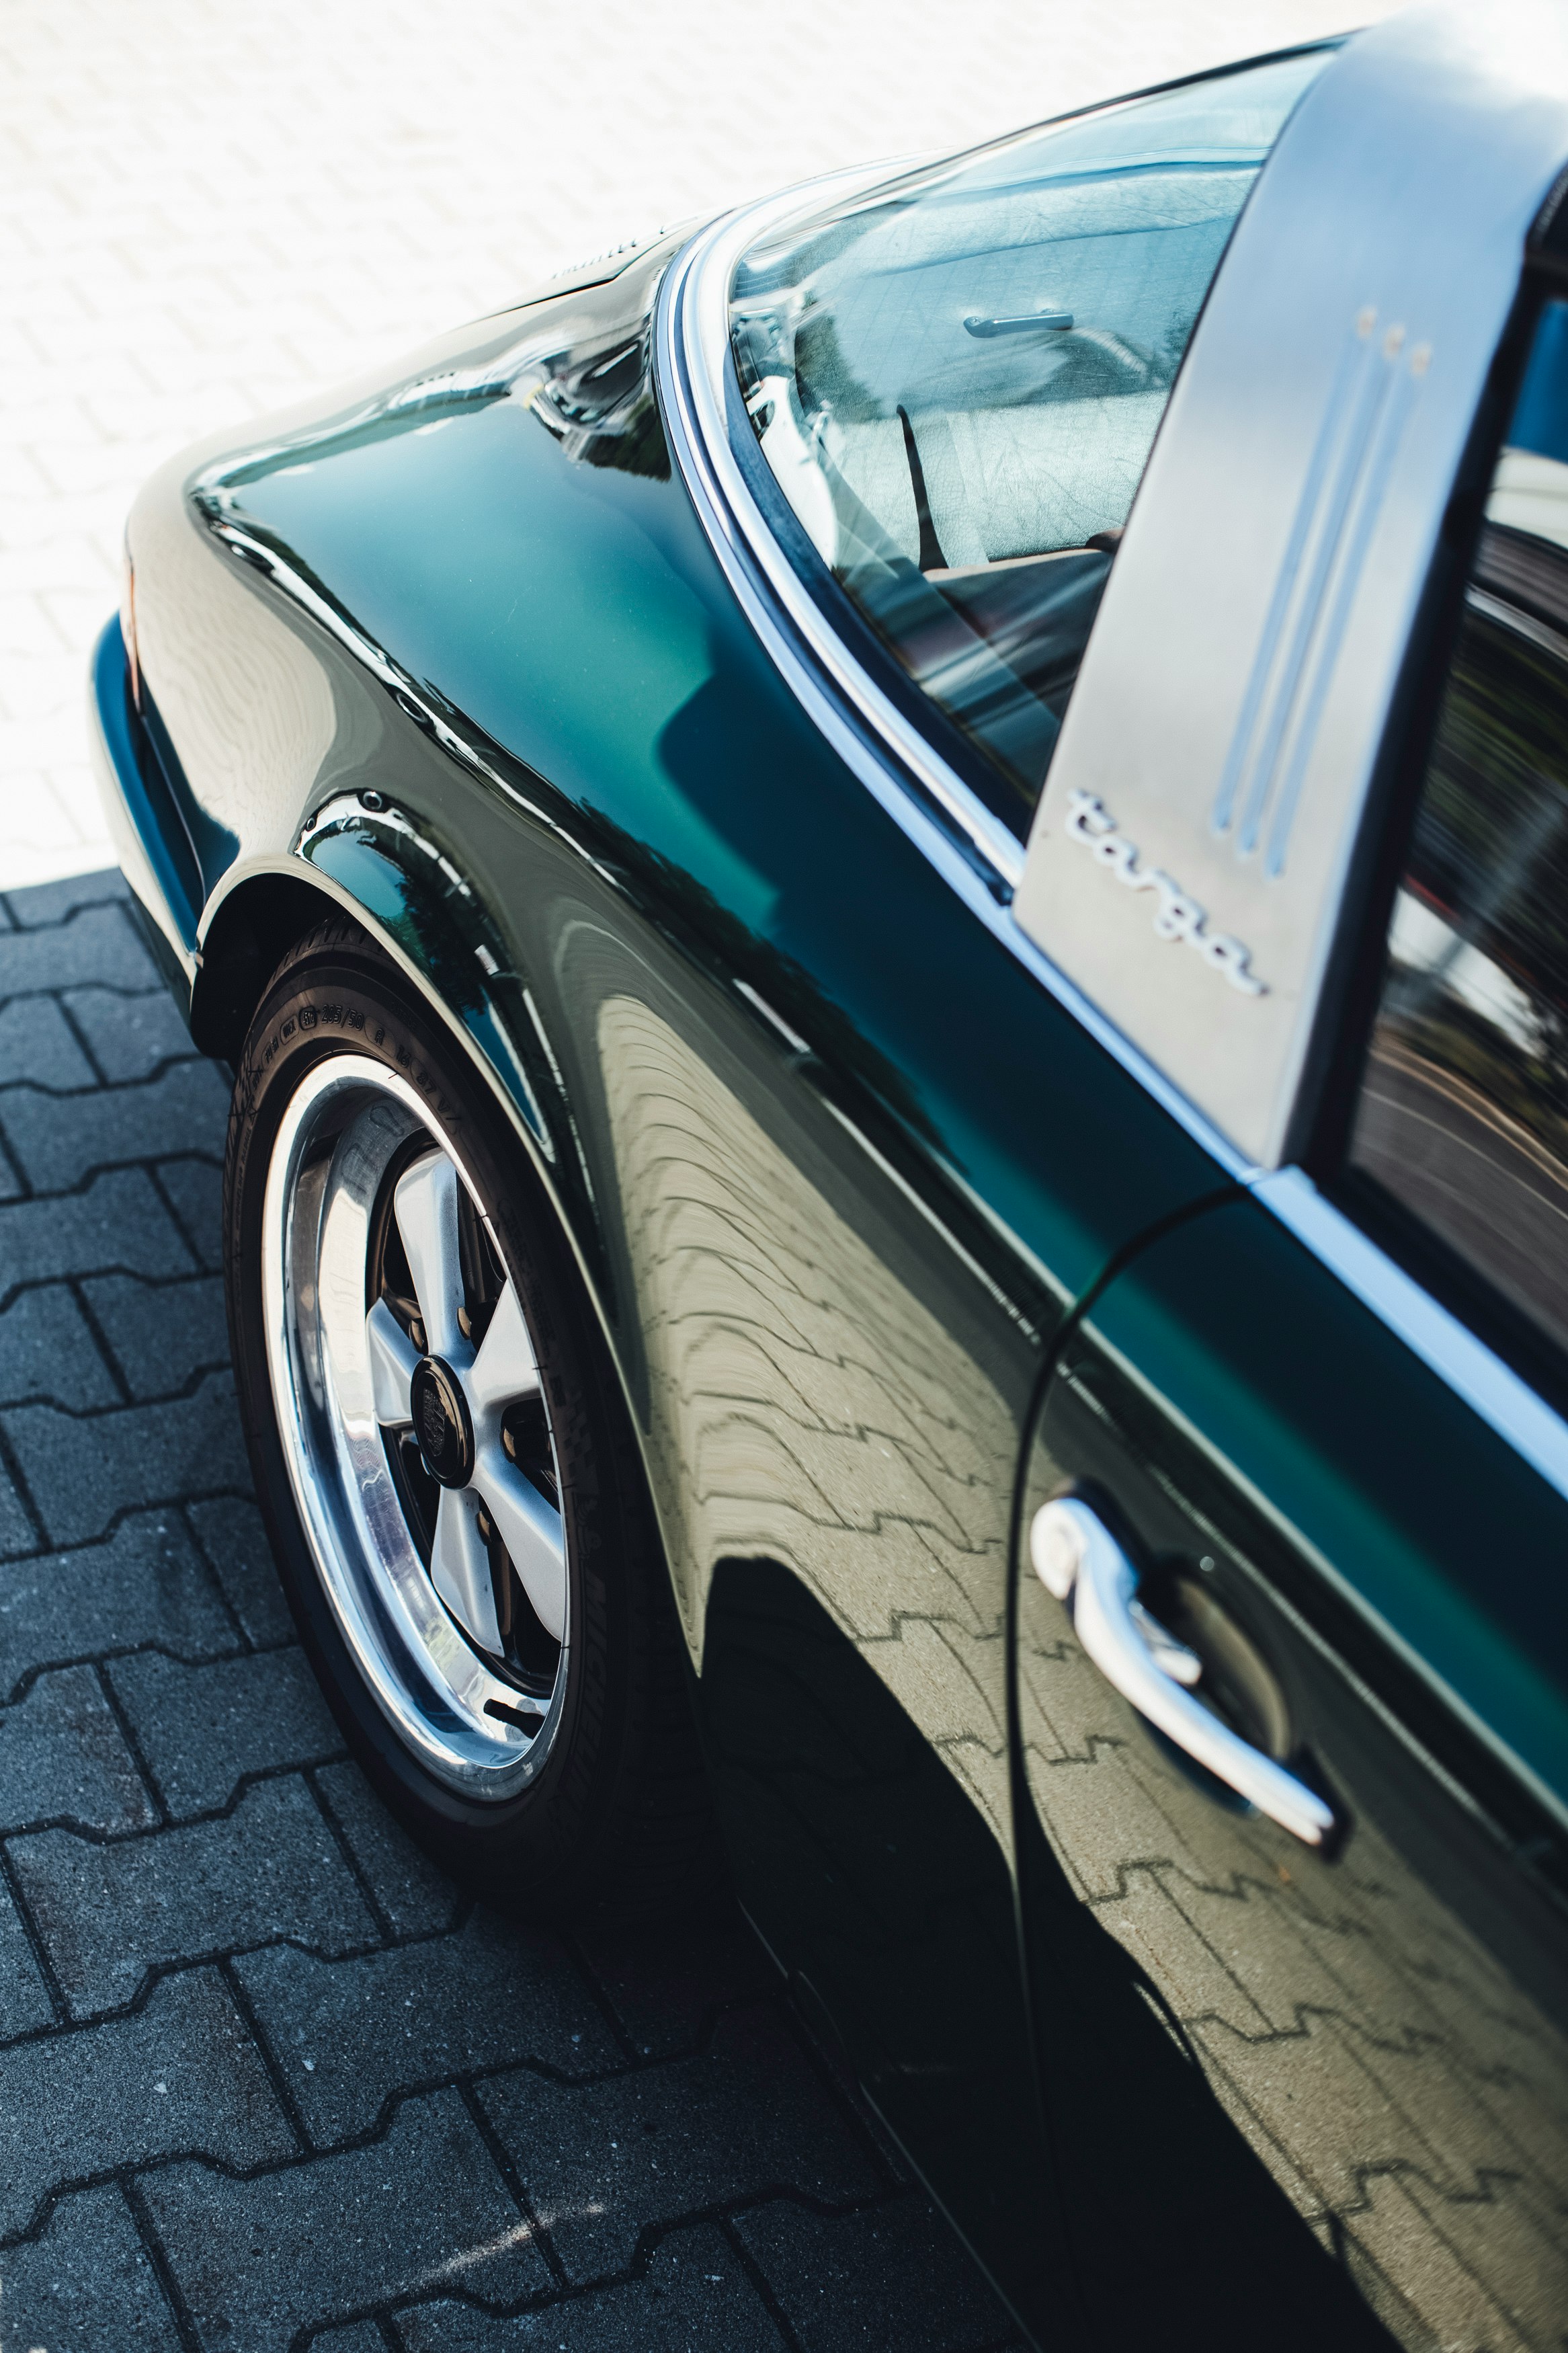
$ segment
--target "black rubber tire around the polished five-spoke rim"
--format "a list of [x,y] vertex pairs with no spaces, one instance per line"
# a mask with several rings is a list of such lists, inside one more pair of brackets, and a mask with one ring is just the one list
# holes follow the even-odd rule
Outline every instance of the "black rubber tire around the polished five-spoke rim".
[[[567,1532],[571,1642],[536,1779],[475,1800],[435,1779],[376,1701],[334,1614],[289,1480],[263,1320],[263,1195],[280,1120],[324,1056],[397,1071],[461,1139],[527,1313]],[[223,1275],[256,1497],[322,1692],[397,1821],[465,1887],[531,1918],[644,1913],[712,1887],[715,1838],[668,1569],[628,1412],[559,1219],[484,1080],[414,986],[346,918],[301,939],[237,1064]]]

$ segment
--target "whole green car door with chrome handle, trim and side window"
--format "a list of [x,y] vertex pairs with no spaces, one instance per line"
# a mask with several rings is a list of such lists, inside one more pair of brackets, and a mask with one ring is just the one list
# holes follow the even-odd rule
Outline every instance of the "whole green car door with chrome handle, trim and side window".
[[1392,701],[1413,791],[1373,795],[1340,901],[1352,1009],[1295,1129],[1314,1174],[1258,1174],[1135,1252],[1074,1320],[1025,1457],[1020,1908],[1070,2240],[1114,2348],[1563,2341],[1549,242],[1448,506],[1467,569],[1418,624],[1432,692],[1406,720]]

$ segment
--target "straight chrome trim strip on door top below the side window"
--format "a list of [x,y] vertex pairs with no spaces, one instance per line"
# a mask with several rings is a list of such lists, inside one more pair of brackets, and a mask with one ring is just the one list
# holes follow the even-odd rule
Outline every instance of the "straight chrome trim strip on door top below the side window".
[[1549,1487],[1568,1497],[1568,1424],[1483,1339],[1441,1306],[1305,1169],[1267,1169],[1248,1186],[1298,1242],[1356,1294],[1455,1398],[1472,1407]]

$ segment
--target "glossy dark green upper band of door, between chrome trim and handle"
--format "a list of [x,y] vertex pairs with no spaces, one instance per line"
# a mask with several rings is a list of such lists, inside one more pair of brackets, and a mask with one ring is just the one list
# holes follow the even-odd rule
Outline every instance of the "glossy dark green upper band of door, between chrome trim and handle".
[[1091,1332],[1373,1652],[1422,1661],[1568,1805],[1568,1501],[1523,1457],[1251,1200],[1166,1235]]

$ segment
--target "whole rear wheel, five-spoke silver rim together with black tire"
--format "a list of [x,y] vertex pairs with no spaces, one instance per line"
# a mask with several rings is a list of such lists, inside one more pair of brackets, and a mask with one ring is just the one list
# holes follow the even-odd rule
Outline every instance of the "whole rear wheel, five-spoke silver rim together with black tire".
[[223,1228],[256,1494],[381,1795],[520,1911],[642,1911],[708,1875],[668,1572],[559,1214],[341,918],[256,1009]]

